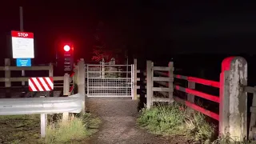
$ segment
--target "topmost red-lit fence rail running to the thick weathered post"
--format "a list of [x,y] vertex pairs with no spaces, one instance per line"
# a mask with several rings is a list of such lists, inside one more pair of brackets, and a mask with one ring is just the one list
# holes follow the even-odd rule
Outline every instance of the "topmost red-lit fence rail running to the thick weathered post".
[[200,83],[202,85],[213,86],[213,87],[219,88],[219,82],[215,82],[215,81],[211,81],[211,80],[207,80],[207,79],[187,77],[187,76],[178,75],[178,74],[174,74],[174,78],[184,79],[184,80],[187,80],[190,82],[196,82],[196,83]]

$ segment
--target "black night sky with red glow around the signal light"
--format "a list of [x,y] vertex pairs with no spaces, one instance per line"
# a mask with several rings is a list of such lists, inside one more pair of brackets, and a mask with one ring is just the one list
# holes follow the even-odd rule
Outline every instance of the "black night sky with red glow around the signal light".
[[154,1],[10,1],[0,9],[1,57],[10,58],[10,30],[34,32],[35,56],[54,60],[58,43],[74,42],[78,58],[91,58],[99,22],[108,49],[137,57],[171,54],[256,54],[253,3]]

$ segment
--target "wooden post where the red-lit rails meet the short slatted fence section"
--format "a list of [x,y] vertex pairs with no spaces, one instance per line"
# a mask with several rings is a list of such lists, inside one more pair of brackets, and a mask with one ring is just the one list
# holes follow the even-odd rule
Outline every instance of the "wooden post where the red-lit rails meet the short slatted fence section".
[[170,91],[168,92],[170,103],[174,102],[174,62],[168,63],[169,71],[168,71],[168,77],[170,78],[168,82],[168,87]]

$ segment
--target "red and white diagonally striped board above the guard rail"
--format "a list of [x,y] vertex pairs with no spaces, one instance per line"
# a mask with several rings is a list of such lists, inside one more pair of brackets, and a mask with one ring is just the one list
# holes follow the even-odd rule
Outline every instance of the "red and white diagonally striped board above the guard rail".
[[37,77],[29,79],[30,91],[50,91],[54,90],[54,78]]

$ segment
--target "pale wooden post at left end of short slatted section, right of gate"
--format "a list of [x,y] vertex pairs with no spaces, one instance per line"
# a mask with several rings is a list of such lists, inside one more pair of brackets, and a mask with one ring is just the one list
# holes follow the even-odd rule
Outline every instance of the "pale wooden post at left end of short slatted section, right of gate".
[[146,61],[146,108],[150,109],[150,106],[153,105],[153,66],[152,61]]

